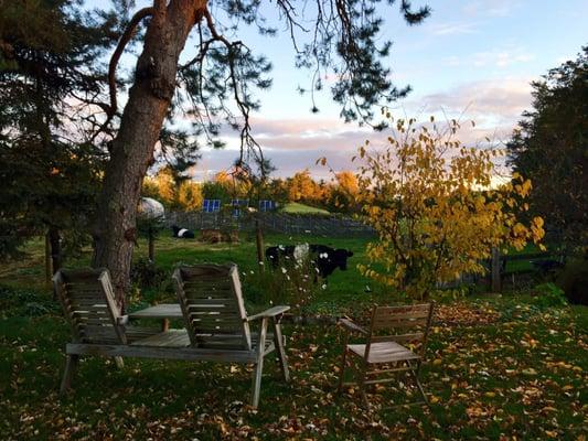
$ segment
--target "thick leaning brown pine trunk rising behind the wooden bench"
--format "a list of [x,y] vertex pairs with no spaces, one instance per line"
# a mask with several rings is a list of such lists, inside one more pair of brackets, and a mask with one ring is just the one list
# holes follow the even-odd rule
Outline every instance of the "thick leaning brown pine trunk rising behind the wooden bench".
[[153,160],[153,149],[175,89],[180,53],[205,7],[206,0],[172,0],[167,7],[164,1],[154,1],[135,84],[113,142],[98,200],[93,265],[110,270],[122,311],[129,290],[142,180]]

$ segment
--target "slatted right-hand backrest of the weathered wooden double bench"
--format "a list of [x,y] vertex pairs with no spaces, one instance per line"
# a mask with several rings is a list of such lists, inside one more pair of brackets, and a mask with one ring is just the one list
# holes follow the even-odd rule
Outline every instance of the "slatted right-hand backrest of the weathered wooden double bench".
[[229,337],[227,348],[252,349],[236,265],[179,267],[172,278],[192,346]]

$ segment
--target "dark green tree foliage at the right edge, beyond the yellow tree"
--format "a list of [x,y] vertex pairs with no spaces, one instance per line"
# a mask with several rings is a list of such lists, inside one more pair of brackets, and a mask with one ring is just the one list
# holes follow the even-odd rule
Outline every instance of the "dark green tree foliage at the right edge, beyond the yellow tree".
[[532,86],[533,109],[507,143],[510,161],[533,179],[531,212],[545,217],[548,232],[587,247],[588,46]]

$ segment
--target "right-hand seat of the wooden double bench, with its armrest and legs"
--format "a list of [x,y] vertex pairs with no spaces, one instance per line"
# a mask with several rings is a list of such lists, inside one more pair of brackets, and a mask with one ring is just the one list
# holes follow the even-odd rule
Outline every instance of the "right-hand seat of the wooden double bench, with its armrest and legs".
[[[243,303],[236,265],[180,267],[173,276],[175,292],[194,354],[202,359],[253,363],[255,365],[252,406],[259,402],[264,357],[277,351],[281,374],[289,380],[280,319],[290,306],[274,306],[248,316]],[[259,332],[249,324],[260,321]],[[267,333],[268,322],[274,334]]]

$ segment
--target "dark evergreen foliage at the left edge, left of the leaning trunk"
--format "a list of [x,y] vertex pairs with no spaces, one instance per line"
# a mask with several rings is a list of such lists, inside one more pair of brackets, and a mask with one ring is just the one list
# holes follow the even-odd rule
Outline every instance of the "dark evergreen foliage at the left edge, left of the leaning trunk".
[[[1,2],[0,255],[33,234],[84,230],[103,154],[89,143],[87,104],[101,93],[96,60],[111,17],[71,0]],[[77,240],[70,240],[76,243]]]

